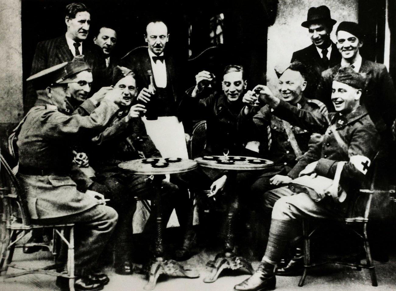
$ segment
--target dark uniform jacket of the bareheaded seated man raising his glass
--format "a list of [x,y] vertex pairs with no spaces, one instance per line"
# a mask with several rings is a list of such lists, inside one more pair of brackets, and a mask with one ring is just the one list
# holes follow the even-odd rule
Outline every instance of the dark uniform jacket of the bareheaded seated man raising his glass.
[[202,155],[223,155],[229,149],[230,155],[241,155],[243,142],[237,131],[238,114],[242,102],[230,104],[224,94],[208,93],[204,89],[196,97],[191,97],[191,88],[187,90],[179,111],[189,114],[190,119],[206,120],[206,147]]

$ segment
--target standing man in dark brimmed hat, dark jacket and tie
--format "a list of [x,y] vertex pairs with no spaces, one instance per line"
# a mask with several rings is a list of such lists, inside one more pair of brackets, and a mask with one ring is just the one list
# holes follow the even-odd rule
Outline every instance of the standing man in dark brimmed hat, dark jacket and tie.
[[327,6],[319,6],[309,8],[307,21],[301,23],[301,26],[308,28],[312,44],[295,51],[291,57],[291,62],[298,60],[312,69],[306,91],[309,98],[314,98],[322,72],[341,61],[341,54],[337,46],[330,40],[330,33],[336,22],[331,19],[330,10]]

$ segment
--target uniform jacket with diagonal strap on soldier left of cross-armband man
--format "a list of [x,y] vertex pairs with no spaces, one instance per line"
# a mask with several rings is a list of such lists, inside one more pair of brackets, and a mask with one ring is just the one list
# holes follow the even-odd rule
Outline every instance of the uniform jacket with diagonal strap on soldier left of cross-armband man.
[[[327,113],[326,106],[314,99],[303,97],[296,106],[296,108],[301,108],[305,111]],[[302,153],[305,153],[308,150],[308,144],[313,132],[294,125],[289,125],[289,127]],[[275,163],[270,174],[288,173],[297,163],[296,159],[301,158],[295,155],[282,119],[272,114],[272,110],[268,105],[263,106],[254,116],[246,116],[242,110],[238,117],[238,131],[241,135],[244,135],[245,143],[249,141],[260,142],[260,155]],[[270,143],[268,138],[271,140]],[[269,144],[270,147],[268,148]]]

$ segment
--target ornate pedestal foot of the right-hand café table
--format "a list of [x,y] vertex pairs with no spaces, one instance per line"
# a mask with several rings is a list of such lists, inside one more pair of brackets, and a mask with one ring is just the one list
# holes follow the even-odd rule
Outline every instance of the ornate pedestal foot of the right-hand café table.
[[215,265],[208,277],[204,279],[205,283],[212,283],[217,280],[220,273],[224,269],[231,270],[244,270],[249,274],[253,274],[253,268],[251,264],[243,257],[237,257],[235,253],[226,252],[219,253],[215,258]]

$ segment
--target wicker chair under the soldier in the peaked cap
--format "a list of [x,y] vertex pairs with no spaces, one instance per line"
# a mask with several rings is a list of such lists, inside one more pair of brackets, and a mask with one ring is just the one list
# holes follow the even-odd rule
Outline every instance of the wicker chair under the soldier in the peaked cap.
[[[4,278],[13,278],[25,274],[47,274],[51,276],[60,276],[69,279],[69,288],[74,290],[74,224],[57,224],[42,225],[32,221],[27,207],[26,195],[21,188],[19,181],[12,172],[10,164],[15,162],[12,157],[8,160],[4,155],[1,158],[1,182],[0,198],[2,201],[2,219],[1,219],[1,260],[0,275]],[[18,242],[32,230],[51,229],[53,236],[58,237],[67,246],[67,266],[63,270],[63,263],[54,263],[43,268],[25,268],[12,263],[15,248],[23,248],[24,244]],[[56,244],[52,244],[52,253],[57,256]],[[43,246],[48,246],[44,245]],[[54,260],[55,261],[55,260]],[[13,274],[7,274],[8,268],[22,270]]]

